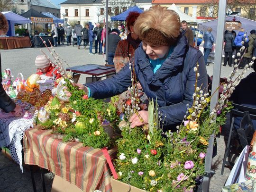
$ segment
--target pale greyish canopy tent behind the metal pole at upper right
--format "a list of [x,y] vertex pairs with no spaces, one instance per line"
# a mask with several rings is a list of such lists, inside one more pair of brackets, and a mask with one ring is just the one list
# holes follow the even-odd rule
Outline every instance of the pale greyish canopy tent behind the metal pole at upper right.
[[[253,21],[253,20],[250,20],[250,19],[247,19],[244,17],[231,15],[231,16],[226,17],[226,21],[232,21],[234,17],[236,18],[236,21],[241,22],[241,24],[242,24],[241,28],[244,28],[245,32],[247,34],[250,34],[250,31],[252,29],[256,29],[256,21]],[[207,21],[207,22],[198,24],[198,29],[202,31],[202,30],[207,30],[208,27],[211,27],[212,28],[211,33],[213,34],[214,39],[216,39],[217,28],[218,28],[217,24],[218,24],[218,19],[214,19],[211,21]],[[238,32],[238,31],[236,31],[236,32]],[[224,33],[224,31],[223,31],[223,33]]]

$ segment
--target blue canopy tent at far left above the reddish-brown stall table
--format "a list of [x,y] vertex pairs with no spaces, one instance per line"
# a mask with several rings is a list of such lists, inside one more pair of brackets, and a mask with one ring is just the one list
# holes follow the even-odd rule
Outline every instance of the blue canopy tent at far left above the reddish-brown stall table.
[[26,24],[26,23],[31,22],[30,19],[22,17],[16,13],[11,12],[11,11],[5,11],[5,12],[2,12],[2,14],[8,20],[8,25],[9,25],[9,30],[7,32],[8,36],[15,36],[15,28],[14,28],[15,24]]

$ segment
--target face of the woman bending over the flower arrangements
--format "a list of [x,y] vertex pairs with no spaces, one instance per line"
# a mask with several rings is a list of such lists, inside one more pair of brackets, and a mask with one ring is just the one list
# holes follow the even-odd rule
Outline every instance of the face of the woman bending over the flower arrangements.
[[168,45],[152,45],[145,41],[142,42],[142,48],[150,59],[164,58],[169,52]]

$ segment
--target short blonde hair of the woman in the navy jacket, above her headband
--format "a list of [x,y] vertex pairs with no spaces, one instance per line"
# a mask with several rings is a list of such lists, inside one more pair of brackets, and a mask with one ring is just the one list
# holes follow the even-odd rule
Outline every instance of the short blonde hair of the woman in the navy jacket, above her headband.
[[134,23],[134,32],[142,39],[149,29],[176,39],[180,35],[180,17],[174,10],[155,5],[140,14]]

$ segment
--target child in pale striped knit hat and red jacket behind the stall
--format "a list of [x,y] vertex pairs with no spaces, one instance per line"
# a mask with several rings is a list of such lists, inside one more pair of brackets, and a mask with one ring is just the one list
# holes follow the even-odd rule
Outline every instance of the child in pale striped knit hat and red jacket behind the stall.
[[52,77],[54,80],[57,80],[61,77],[57,69],[52,66],[50,61],[46,58],[45,55],[38,55],[35,60],[35,66],[37,67],[38,75],[46,75]]

